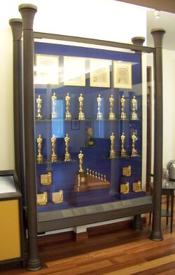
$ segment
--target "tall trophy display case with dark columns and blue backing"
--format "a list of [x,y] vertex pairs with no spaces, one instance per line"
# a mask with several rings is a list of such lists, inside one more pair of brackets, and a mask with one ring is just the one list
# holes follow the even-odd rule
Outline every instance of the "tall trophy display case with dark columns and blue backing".
[[[141,214],[154,210],[151,239],[160,241],[165,31],[153,31],[155,48],[142,46],[140,37],[127,44],[45,34],[33,32],[36,6],[22,4],[19,11],[27,269],[41,268],[36,237],[50,230],[130,216],[141,229]],[[155,67],[157,91],[154,205],[145,191],[148,64]]]

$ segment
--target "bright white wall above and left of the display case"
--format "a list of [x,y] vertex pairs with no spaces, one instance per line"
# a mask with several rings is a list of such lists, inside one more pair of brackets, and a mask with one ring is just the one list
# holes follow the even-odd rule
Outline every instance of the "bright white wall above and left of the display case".
[[146,37],[146,11],[139,6],[114,0],[3,1],[0,16],[0,170],[14,168],[13,45],[8,20],[20,18],[18,6],[26,2],[38,7],[34,19],[34,30],[38,32],[120,42],[130,42],[133,36]]

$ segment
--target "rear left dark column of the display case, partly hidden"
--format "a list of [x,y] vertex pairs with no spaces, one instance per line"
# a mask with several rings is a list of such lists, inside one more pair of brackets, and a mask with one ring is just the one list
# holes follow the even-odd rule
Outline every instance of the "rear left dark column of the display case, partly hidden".
[[22,141],[22,19],[9,20],[13,34],[13,117],[15,142],[15,171],[20,185],[24,180]]

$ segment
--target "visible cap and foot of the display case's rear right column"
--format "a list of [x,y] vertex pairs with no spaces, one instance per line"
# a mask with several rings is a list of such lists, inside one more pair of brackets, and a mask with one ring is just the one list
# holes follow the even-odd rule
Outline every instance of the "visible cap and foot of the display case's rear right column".
[[[143,46],[145,41],[145,38],[143,36],[135,36],[132,37],[132,43],[134,45],[139,45],[139,46]],[[139,53],[139,52],[137,52]],[[134,230],[142,230],[142,224],[141,224],[141,215],[134,215],[134,220],[132,222],[132,229]]]

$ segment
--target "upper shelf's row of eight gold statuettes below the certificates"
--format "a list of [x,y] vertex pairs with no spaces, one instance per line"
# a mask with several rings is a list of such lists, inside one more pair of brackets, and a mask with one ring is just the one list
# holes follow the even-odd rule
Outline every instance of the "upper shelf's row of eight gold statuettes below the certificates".
[[[38,95],[38,98],[36,98],[36,104],[37,104],[37,114],[36,118],[37,119],[43,119],[42,115],[42,98],[41,95]],[[66,101],[66,113],[65,113],[65,119],[66,120],[71,120],[71,112],[70,112],[70,102],[71,102],[71,97],[69,93],[66,94],[65,96],[65,101]],[[83,94],[80,93],[80,96],[78,97],[79,101],[79,114],[78,114],[78,119],[79,120],[85,120],[85,114],[83,112]],[[116,120],[116,114],[113,112],[113,107],[114,107],[114,98],[113,95],[109,98],[110,102],[110,112],[109,112],[109,120]],[[57,119],[58,118],[58,113],[57,113],[57,95],[53,93],[51,97],[51,102],[52,102],[52,119]],[[120,112],[120,119],[127,119],[127,114],[125,113],[125,97],[124,95],[120,99],[120,104],[121,104],[121,112]],[[104,119],[104,114],[102,114],[101,109],[102,109],[102,98],[101,95],[98,95],[97,98],[97,120],[102,120]],[[137,115],[137,99],[135,96],[132,98],[132,114],[131,118],[132,120],[137,120],[138,115]]]

